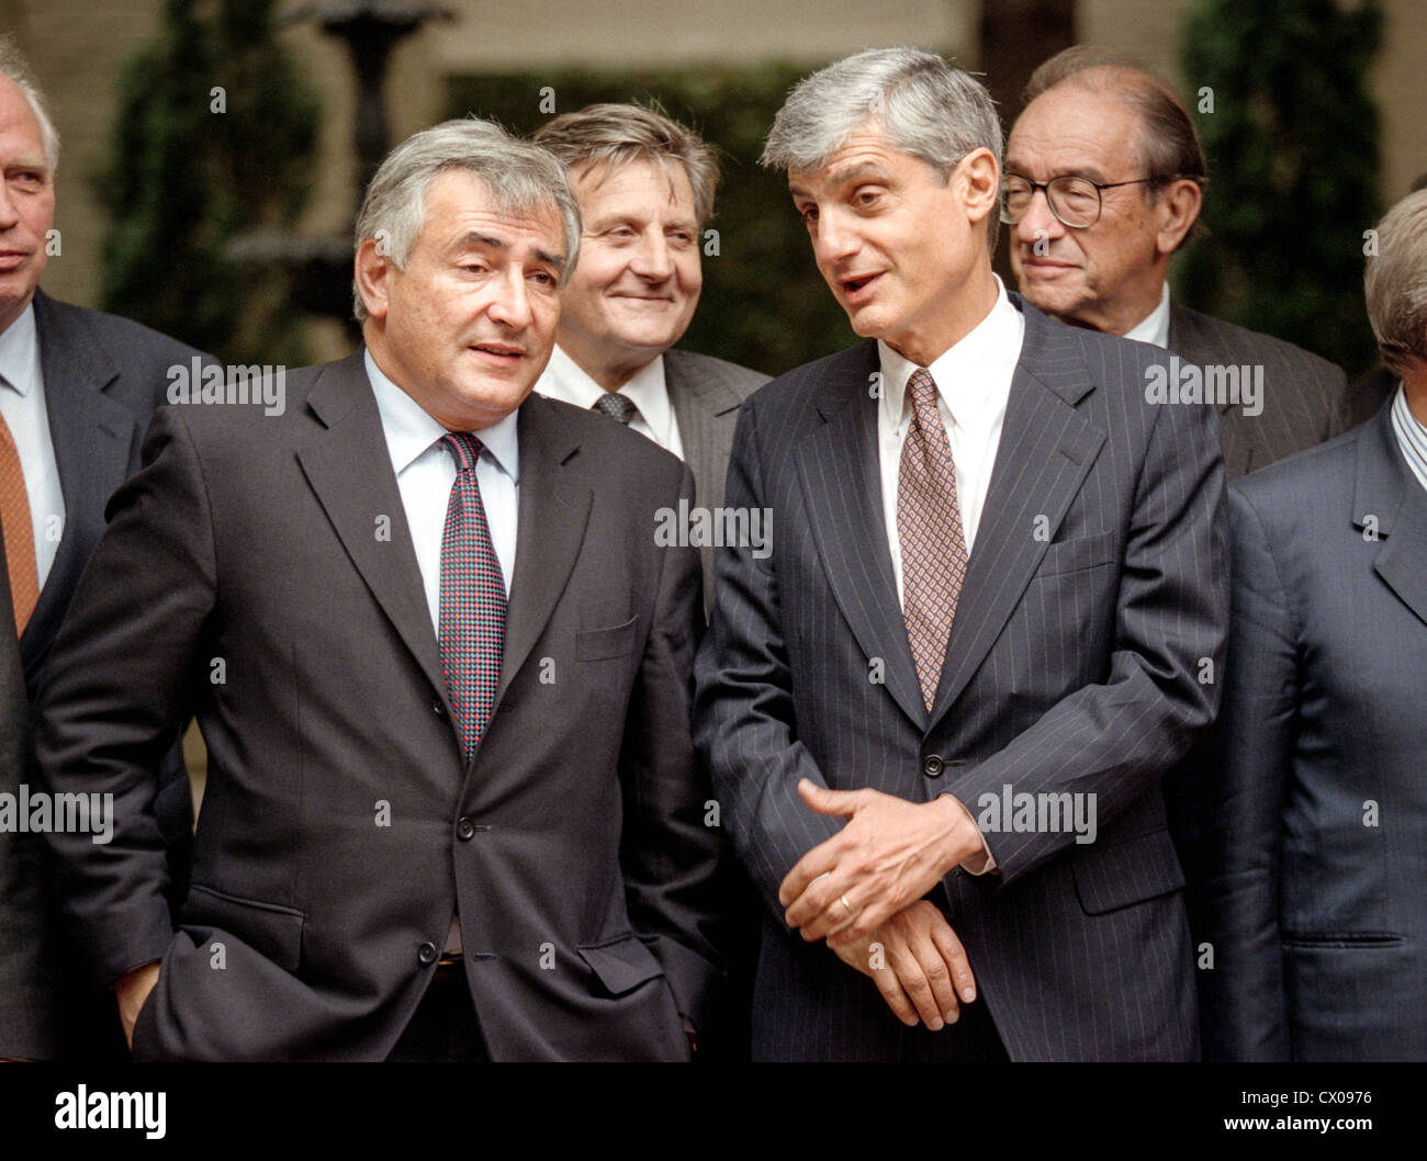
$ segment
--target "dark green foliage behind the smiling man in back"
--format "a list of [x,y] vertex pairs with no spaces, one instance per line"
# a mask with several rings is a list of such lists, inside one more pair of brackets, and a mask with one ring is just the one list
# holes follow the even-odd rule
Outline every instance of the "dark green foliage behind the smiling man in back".
[[[758,155],[773,114],[812,67],[691,68],[648,74],[542,70],[455,77],[448,116],[475,114],[529,135],[554,113],[595,101],[658,103],[722,153],[704,294],[681,347],[776,375],[856,341],[812,260],[785,175]],[[549,111],[551,98],[554,113]],[[545,110],[542,111],[542,101]]]

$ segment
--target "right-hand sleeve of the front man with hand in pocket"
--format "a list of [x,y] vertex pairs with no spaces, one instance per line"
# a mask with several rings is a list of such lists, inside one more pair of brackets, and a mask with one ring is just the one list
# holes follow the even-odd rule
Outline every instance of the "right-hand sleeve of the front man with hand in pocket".
[[[684,468],[681,496],[694,503]],[[652,525],[651,525],[652,529]],[[694,649],[704,622],[698,551],[659,548],[659,589],[621,749],[621,864],[629,920],[651,940],[679,1011],[696,1026],[719,977],[714,950],[718,836],[689,735]]]

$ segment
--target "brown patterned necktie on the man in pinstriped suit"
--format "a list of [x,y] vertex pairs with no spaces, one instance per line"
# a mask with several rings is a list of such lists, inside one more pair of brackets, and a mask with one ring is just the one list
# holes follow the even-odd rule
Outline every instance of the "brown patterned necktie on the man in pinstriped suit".
[[956,598],[966,579],[966,536],[956,499],[956,464],[936,411],[936,384],[919,367],[906,385],[912,426],[902,444],[896,535],[902,549],[902,616],[928,712],[952,636]]

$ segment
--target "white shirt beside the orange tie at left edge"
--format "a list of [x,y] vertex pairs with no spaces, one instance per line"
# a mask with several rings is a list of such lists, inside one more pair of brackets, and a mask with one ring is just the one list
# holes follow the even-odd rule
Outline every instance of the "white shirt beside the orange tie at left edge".
[[20,452],[20,471],[24,472],[34,526],[34,563],[43,589],[64,533],[64,489],[50,441],[33,301],[0,332],[0,415],[4,415]]

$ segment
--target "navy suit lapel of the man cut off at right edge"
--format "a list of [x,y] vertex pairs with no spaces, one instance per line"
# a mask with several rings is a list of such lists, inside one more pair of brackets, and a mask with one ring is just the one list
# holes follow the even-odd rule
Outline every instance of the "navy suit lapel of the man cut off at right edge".
[[1376,528],[1383,545],[1373,568],[1427,622],[1427,491],[1403,461],[1391,402],[1357,441],[1353,522],[1359,529]]

